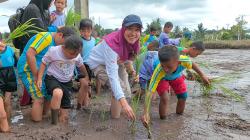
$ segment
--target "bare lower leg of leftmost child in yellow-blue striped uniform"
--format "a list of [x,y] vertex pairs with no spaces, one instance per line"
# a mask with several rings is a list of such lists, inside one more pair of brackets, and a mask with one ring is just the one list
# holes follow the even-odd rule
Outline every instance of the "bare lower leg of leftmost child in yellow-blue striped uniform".
[[43,116],[43,98],[33,99],[31,109],[31,119],[35,122],[42,121]]

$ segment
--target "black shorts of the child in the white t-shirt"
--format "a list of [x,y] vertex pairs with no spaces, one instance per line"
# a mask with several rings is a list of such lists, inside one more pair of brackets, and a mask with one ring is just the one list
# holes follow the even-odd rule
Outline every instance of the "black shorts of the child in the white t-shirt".
[[56,88],[62,89],[63,97],[61,100],[61,108],[63,108],[63,109],[71,108],[70,97],[71,97],[72,86],[73,86],[72,81],[67,82],[67,83],[62,83],[62,82],[58,81],[55,77],[46,75],[44,82],[45,82],[45,86],[47,89],[47,93],[50,96],[53,95],[54,89],[56,89]]

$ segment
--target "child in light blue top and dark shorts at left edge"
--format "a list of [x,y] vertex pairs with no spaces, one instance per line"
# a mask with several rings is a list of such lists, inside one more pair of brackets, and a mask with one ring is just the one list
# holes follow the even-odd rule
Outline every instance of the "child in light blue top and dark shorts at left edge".
[[17,90],[14,50],[0,42],[0,132],[9,132],[11,92]]

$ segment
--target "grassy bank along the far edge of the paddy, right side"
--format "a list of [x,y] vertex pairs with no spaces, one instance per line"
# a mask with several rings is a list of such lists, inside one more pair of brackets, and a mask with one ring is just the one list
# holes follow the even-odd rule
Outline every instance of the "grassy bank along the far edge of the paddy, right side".
[[250,40],[205,41],[207,49],[250,49]]

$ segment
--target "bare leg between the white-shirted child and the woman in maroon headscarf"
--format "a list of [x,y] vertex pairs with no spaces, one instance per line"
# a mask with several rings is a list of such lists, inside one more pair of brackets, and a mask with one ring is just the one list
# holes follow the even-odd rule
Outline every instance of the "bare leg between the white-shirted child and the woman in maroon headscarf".
[[80,80],[80,89],[77,101],[77,109],[80,109],[82,106],[89,105],[89,83],[84,78]]

